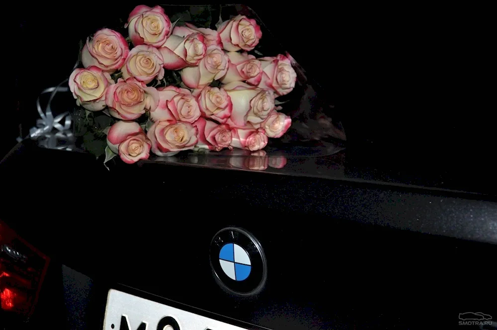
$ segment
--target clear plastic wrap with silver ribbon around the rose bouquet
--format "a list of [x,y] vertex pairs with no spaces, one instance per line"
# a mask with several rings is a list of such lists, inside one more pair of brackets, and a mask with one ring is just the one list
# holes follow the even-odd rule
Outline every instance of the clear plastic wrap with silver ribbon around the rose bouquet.
[[[279,138],[269,138],[262,150],[249,151],[241,149],[224,149],[221,151],[194,150],[181,151],[172,157],[159,157],[150,154],[148,160],[140,162],[164,162],[167,164],[184,164],[209,167],[224,167],[249,170],[268,170],[282,173],[301,173],[322,176],[323,171],[338,169],[341,157],[329,159],[329,156],[344,149],[346,140],[344,128],[340,122],[339,109],[335,109],[326,92],[307,77],[305,70],[288,54],[277,36],[273,35],[259,16],[245,5],[161,5],[175,26],[193,23],[197,27],[216,29],[216,25],[237,15],[253,18],[260,25],[262,38],[249,55],[256,58],[286,55],[296,72],[295,87],[286,95],[276,98],[279,112],[292,120],[289,129]],[[127,35],[122,17],[109,22],[108,28]],[[112,24],[115,24],[112,25]],[[83,47],[84,42],[82,42]],[[76,67],[81,67],[80,62]],[[51,149],[90,152],[105,161],[111,170],[121,162],[119,157],[109,160],[106,155],[105,134],[115,119],[105,111],[85,111],[75,107],[75,100],[68,92],[67,81],[60,86],[45,90],[40,95],[38,106],[41,120],[30,131],[30,137],[37,139],[39,145]],[[138,120],[145,127],[146,115]],[[328,158],[327,158],[328,157]],[[330,163],[331,162],[331,163]],[[328,164],[330,163],[330,164]],[[321,165],[318,165],[321,164]]]

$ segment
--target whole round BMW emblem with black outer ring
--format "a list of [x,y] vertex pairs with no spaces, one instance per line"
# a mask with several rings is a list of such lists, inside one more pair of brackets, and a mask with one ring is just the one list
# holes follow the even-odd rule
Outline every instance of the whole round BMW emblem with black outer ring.
[[219,231],[211,242],[210,259],[216,281],[229,292],[252,295],[265,284],[267,265],[262,247],[241,228]]

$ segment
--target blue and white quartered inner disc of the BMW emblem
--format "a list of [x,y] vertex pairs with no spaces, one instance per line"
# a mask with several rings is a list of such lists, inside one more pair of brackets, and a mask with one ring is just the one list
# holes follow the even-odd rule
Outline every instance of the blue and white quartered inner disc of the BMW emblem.
[[225,274],[235,281],[247,279],[252,268],[247,251],[236,243],[228,243],[221,248],[219,263]]

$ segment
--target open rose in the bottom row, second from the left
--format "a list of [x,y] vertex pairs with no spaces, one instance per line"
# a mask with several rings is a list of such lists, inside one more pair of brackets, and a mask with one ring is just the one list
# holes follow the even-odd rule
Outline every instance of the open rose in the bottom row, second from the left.
[[192,124],[175,121],[156,121],[147,137],[152,141],[152,152],[158,156],[172,156],[181,150],[193,149],[198,142],[198,129]]

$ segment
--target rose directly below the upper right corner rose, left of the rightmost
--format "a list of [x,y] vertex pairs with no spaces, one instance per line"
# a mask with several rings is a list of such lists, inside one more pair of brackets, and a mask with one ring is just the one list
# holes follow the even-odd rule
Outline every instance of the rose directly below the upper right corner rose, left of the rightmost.
[[221,83],[247,82],[257,86],[262,79],[260,62],[247,53],[229,52],[230,66]]

